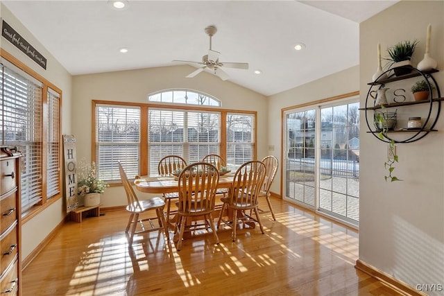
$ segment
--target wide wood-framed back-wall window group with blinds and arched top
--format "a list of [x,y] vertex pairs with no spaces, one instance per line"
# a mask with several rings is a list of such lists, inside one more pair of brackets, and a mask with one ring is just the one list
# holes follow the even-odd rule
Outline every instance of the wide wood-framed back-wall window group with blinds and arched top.
[[255,159],[256,112],[223,110],[216,98],[188,90],[152,94],[148,102],[93,101],[93,159],[101,179],[120,180],[117,160],[133,177],[157,174],[167,155],[191,164],[217,154],[230,170]]

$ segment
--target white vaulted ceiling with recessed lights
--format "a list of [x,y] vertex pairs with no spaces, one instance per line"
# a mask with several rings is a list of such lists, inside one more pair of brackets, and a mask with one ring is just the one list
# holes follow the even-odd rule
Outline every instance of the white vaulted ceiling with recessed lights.
[[129,0],[119,11],[103,0],[3,0],[72,75],[200,61],[214,25],[219,60],[250,64],[224,68],[228,81],[266,96],[359,64],[359,22],[396,2]]

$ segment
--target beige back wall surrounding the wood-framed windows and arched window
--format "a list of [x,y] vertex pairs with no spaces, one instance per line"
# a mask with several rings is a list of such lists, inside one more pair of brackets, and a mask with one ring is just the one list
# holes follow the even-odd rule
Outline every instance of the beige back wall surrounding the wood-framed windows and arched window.
[[[131,71],[98,73],[73,78],[73,134],[77,159],[91,160],[92,100],[148,103],[148,94],[163,89],[194,89],[218,98],[224,109],[257,111],[257,157],[267,155],[267,100],[265,96],[222,81],[210,73],[185,78],[195,68],[171,66]],[[101,196],[103,207],[126,204],[123,187],[110,187]]]

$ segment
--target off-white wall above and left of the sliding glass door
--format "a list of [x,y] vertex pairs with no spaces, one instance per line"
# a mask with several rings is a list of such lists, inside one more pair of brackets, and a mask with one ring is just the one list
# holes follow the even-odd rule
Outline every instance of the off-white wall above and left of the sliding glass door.
[[282,194],[280,192],[282,169],[281,110],[287,107],[319,101],[325,98],[348,94],[350,92],[356,92],[358,89],[359,66],[355,66],[319,80],[309,82],[300,87],[289,89],[286,92],[275,94],[268,98],[269,132],[267,145],[275,146],[274,150],[268,151],[268,153],[278,157],[279,159],[278,173],[276,174],[275,180],[271,185],[271,191],[273,193]]

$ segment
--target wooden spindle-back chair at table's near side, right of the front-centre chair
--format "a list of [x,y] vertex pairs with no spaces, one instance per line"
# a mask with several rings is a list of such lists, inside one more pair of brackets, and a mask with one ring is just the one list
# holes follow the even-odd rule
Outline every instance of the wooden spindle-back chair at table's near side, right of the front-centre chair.
[[[242,164],[234,173],[233,182],[228,196],[221,198],[222,209],[219,215],[219,220],[217,221],[217,228],[219,229],[221,222],[225,225],[232,227],[231,238],[232,241],[236,240],[236,228],[237,228],[237,212],[246,210],[253,210],[256,214],[256,221],[259,223],[262,234],[264,234],[264,227],[262,227],[261,219],[259,217],[259,212],[257,210],[259,191],[262,188],[266,174],[266,166],[263,162],[258,160],[252,160]],[[232,221],[224,220],[225,211],[232,209]],[[229,216],[228,214],[225,216]],[[250,217],[243,216],[239,220],[248,220],[250,222]],[[246,222],[246,221],[243,221]]]

